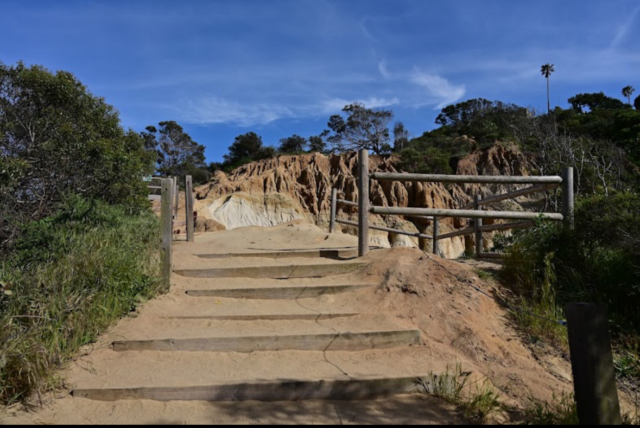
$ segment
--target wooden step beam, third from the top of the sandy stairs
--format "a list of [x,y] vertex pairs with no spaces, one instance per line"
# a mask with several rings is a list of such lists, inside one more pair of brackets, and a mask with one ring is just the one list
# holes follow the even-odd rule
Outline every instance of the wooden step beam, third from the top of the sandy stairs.
[[309,299],[325,294],[357,291],[375,284],[361,285],[314,285],[291,287],[236,287],[187,290],[191,297],[224,297],[230,299]]

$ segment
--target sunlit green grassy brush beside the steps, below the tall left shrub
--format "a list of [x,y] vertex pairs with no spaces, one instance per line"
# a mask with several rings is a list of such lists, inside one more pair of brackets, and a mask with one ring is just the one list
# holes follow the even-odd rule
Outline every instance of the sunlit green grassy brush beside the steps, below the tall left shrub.
[[150,211],[79,198],[28,223],[0,265],[0,403],[55,386],[55,370],[159,291]]

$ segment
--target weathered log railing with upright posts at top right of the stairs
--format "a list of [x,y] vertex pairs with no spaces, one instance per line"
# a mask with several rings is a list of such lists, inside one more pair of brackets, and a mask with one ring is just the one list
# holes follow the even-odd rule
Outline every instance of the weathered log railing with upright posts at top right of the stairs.
[[[413,181],[429,183],[477,183],[477,184],[532,184],[533,186],[516,190],[509,193],[495,195],[482,199],[480,195],[475,195],[471,204],[459,209],[440,208],[402,208],[402,207],[381,207],[370,206],[369,204],[369,182],[377,181]],[[538,213],[521,211],[489,211],[483,210],[485,205],[525,196],[532,193],[544,192],[557,186],[562,186],[562,213]],[[364,256],[369,251],[369,229],[382,230],[400,235],[413,236],[421,239],[432,240],[433,253],[439,254],[438,241],[456,236],[475,235],[475,254],[479,258],[499,258],[499,254],[485,253],[482,249],[483,232],[495,232],[500,230],[510,230],[531,227],[536,219],[551,221],[564,221],[567,225],[573,225],[573,169],[565,168],[562,176],[487,176],[487,175],[440,175],[440,174],[406,174],[406,173],[385,173],[374,172],[369,174],[369,154],[366,150],[358,153],[358,202],[346,201],[337,198],[337,190],[332,189],[331,193],[331,216],[330,232],[335,231],[336,223],[354,226],[358,228],[358,252]],[[337,206],[345,205],[358,209],[358,221],[341,220],[336,217]],[[400,229],[393,229],[384,226],[369,224],[369,213],[377,215],[398,215],[404,217],[414,217],[427,219],[433,222],[433,235],[424,233],[407,232]],[[440,221],[446,217],[468,218],[473,224],[471,227],[457,230],[450,233],[440,234]],[[483,225],[483,219],[506,219],[518,220],[506,224]]]

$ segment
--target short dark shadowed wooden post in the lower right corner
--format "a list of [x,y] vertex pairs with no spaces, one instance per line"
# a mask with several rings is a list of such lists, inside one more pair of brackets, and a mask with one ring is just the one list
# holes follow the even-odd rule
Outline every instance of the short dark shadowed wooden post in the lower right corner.
[[607,310],[590,303],[565,308],[580,425],[620,425],[620,404]]

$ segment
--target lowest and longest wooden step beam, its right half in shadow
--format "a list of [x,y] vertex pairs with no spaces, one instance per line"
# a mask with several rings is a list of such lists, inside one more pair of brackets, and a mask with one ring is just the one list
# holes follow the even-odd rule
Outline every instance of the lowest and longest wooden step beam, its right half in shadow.
[[229,385],[75,389],[74,397],[100,401],[364,400],[418,392],[423,376],[350,380],[283,380]]

